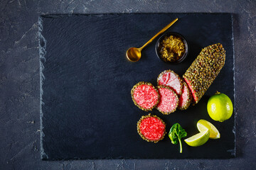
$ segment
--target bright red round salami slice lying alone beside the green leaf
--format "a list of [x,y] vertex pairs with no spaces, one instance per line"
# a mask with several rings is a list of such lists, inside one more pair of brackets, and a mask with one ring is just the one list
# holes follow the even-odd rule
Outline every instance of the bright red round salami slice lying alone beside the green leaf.
[[137,123],[137,131],[147,142],[159,142],[166,135],[166,124],[156,115],[144,115]]

